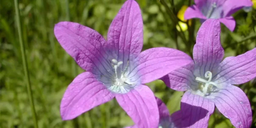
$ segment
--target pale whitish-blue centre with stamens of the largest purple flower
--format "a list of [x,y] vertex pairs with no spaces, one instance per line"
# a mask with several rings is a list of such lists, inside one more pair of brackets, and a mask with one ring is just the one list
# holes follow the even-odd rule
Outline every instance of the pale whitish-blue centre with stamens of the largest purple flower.
[[129,60],[123,68],[123,61],[111,60],[111,66],[113,72],[110,75],[101,75],[101,82],[105,84],[108,90],[115,93],[127,93],[137,85],[135,76],[130,75]]

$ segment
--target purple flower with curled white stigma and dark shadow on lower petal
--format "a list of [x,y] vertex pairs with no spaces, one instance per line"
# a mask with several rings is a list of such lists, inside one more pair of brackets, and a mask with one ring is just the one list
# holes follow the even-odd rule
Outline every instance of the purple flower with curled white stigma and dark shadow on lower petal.
[[222,61],[223,56],[219,20],[206,20],[197,33],[194,62],[162,78],[168,87],[186,91],[181,99],[186,104],[180,107],[182,125],[189,123],[190,127],[207,127],[216,106],[235,127],[250,127],[250,102],[246,94],[232,84],[243,84],[255,78],[256,48]]

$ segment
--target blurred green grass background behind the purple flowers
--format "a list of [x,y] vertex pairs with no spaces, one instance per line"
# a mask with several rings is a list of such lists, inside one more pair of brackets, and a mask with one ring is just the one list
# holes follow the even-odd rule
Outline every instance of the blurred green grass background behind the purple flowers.
[[[84,72],[57,42],[53,28],[60,21],[72,21],[97,30],[106,37],[108,26],[125,0],[22,0],[19,2],[22,35],[28,62],[39,128],[109,128],[123,127],[133,121],[116,100],[100,105],[78,118],[62,121],[59,105],[66,87],[76,75]],[[137,0],[144,22],[144,47],[178,48],[191,55],[195,36],[201,23],[193,20],[189,30],[176,30],[174,17],[189,0]],[[193,1],[192,1],[193,2]],[[0,19],[0,128],[30,128],[33,119],[15,21],[12,0],[1,0]],[[235,56],[255,48],[256,11],[240,10],[233,15],[236,30],[232,33],[222,25],[221,42],[226,56]],[[175,17],[176,18],[176,17]],[[175,19],[174,18],[174,19]],[[176,18],[177,19],[177,18]],[[179,36],[184,34],[186,40]],[[149,83],[155,95],[168,106],[170,113],[180,109],[183,92],[167,88],[161,80]],[[256,122],[255,81],[239,85],[247,94]],[[210,128],[233,127],[217,109],[209,121]]]

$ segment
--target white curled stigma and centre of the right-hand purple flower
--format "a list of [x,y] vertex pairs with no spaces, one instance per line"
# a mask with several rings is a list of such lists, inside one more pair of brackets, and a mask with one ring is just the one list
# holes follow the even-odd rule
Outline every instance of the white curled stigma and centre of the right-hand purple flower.
[[217,88],[219,88],[218,84],[212,82],[212,72],[210,71],[205,72],[204,77],[208,78],[208,80],[204,80],[200,77],[196,77],[196,80],[199,82],[198,90],[202,92],[202,93],[199,93],[199,95],[201,96],[210,95],[212,92],[215,92]]

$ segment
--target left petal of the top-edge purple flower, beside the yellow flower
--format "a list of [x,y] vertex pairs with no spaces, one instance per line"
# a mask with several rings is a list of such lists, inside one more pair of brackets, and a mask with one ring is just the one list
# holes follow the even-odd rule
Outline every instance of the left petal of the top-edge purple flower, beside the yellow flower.
[[192,18],[207,19],[196,5],[187,8],[184,14],[185,20]]

